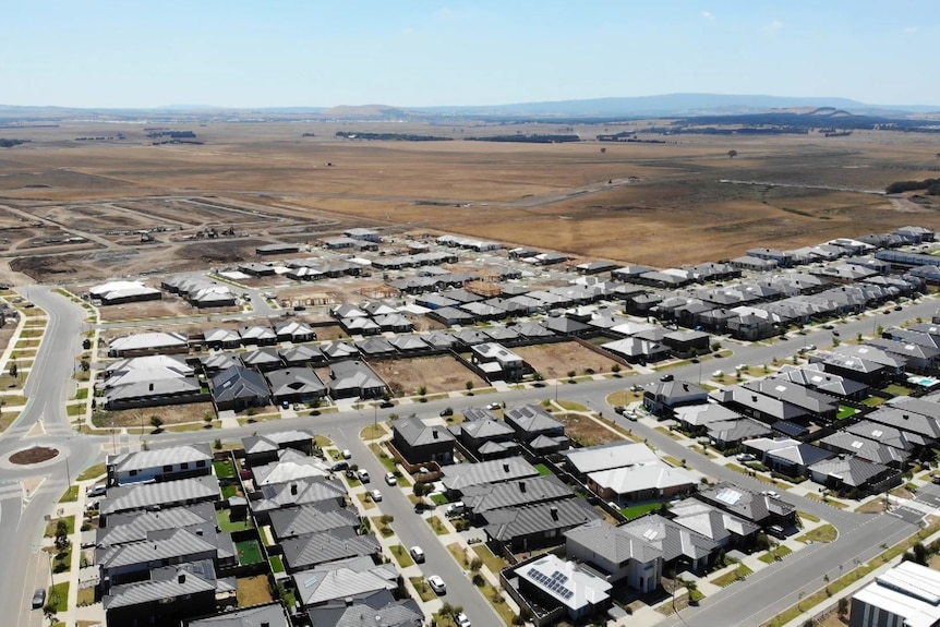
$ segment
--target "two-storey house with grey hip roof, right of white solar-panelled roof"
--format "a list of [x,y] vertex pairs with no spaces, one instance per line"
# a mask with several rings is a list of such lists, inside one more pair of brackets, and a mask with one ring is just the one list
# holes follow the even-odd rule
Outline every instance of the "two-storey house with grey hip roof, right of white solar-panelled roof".
[[565,557],[588,564],[610,583],[624,582],[641,594],[655,591],[663,577],[663,552],[659,547],[604,519],[566,531]]

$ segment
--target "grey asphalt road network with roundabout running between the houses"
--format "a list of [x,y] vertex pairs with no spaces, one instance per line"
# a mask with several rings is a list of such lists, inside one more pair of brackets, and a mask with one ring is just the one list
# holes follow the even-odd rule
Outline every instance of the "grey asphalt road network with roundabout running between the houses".
[[[2,469],[2,481],[15,482],[25,479],[45,478],[35,494],[24,499],[11,492],[10,483],[0,484],[0,542],[4,547],[4,559],[0,563],[0,607],[13,608],[17,612],[13,624],[31,625],[36,622],[38,612],[29,612],[29,595],[32,590],[48,582],[48,569],[39,566],[44,558],[37,556],[36,543],[41,536],[44,516],[55,511],[55,503],[68,486],[67,473],[72,478],[84,467],[93,463],[100,456],[100,444],[107,438],[75,434],[68,421],[62,402],[73,394],[72,371],[75,367],[75,355],[81,341],[82,319],[85,312],[49,288],[31,287],[29,298],[49,314],[49,326],[46,337],[34,362],[33,373],[27,384],[31,400],[16,423],[0,436],[0,456],[27,445],[48,445],[60,449],[56,460],[25,469]],[[938,308],[936,300],[924,299],[915,304],[906,304],[904,311],[864,315],[837,324],[836,329],[844,339],[858,333],[870,334],[878,325],[890,327],[906,319],[923,317],[930,319]],[[800,346],[815,343],[822,348],[831,343],[831,331],[809,330],[805,336],[797,336],[787,341],[775,341],[769,346],[736,345],[725,342],[725,348],[734,350],[734,354],[724,359],[708,360],[700,364],[689,364],[670,370],[676,378],[698,381],[708,377],[714,370],[733,372],[735,364],[752,365],[771,363],[775,358],[788,359]],[[605,402],[605,397],[625,386],[655,381],[658,374],[628,376],[620,379],[604,379],[600,382],[562,385],[541,389],[511,390],[502,394],[487,394],[485,397],[460,397],[424,405],[401,406],[394,409],[378,410],[375,418],[387,420],[389,413],[411,413],[422,418],[436,415],[445,407],[461,411],[481,402],[494,400],[510,405],[537,402],[553,396],[582,402],[603,411],[607,418],[615,418]],[[26,433],[39,420],[46,427],[46,434],[33,436],[25,441]],[[345,412],[317,417],[315,419],[300,418],[275,422],[263,422],[246,425],[238,430],[214,432],[210,437],[221,436],[234,439],[253,432],[267,433],[285,429],[313,427],[332,437],[337,443],[345,443],[347,448],[355,451],[357,462],[367,468],[370,473],[381,481],[384,469],[377,459],[366,453],[359,442],[360,430],[372,422],[373,415],[366,412]],[[618,419],[623,420],[623,419]],[[626,424],[626,423],[625,423]],[[636,423],[628,426],[635,431],[646,429]],[[685,455],[671,438],[647,429],[644,434],[650,442],[660,446],[668,454],[682,453],[683,457],[698,470],[718,479],[733,480],[744,486],[751,485],[746,477],[728,471],[708,462],[698,456]],[[149,437],[152,446],[173,446],[189,442],[203,442],[204,432],[167,433]],[[726,474],[731,473],[731,474]],[[378,484],[379,490],[382,489]],[[387,494],[386,494],[387,492]],[[397,523],[393,524],[402,542],[410,546],[421,545],[426,553],[423,567],[427,574],[441,575],[448,584],[447,600],[451,604],[462,604],[470,618],[479,624],[495,624],[495,615],[489,604],[480,598],[458,565],[450,558],[446,548],[441,545],[430,526],[426,523],[408,524],[415,516],[410,502],[402,493],[383,491],[383,511],[395,516]],[[882,543],[892,543],[913,533],[916,529],[903,519],[890,515],[857,515],[830,508],[819,502],[794,495],[784,495],[798,509],[817,514],[830,520],[840,532],[840,538],[828,545],[809,546],[798,552],[792,558],[761,570],[748,578],[746,583],[738,583],[726,591],[706,599],[697,608],[683,611],[683,618],[692,617],[689,624],[709,626],[755,625],[770,618],[780,610],[795,603],[800,592],[809,592],[822,586],[824,575],[833,576],[834,570],[842,565],[849,568],[853,559],[867,559],[877,554]],[[940,493],[938,493],[940,498]],[[19,503],[17,503],[19,502]],[[24,568],[25,565],[25,568]],[[743,598],[742,594],[747,594]],[[16,611],[16,608],[20,608]],[[666,625],[679,624],[680,619],[667,619]]]

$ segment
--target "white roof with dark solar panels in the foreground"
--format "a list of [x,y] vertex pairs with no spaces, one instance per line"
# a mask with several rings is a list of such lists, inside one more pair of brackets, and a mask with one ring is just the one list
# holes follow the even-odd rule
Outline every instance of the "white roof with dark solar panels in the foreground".
[[613,588],[600,577],[582,570],[574,562],[545,555],[516,569],[516,575],[573,612],[590,605],[602,606]]

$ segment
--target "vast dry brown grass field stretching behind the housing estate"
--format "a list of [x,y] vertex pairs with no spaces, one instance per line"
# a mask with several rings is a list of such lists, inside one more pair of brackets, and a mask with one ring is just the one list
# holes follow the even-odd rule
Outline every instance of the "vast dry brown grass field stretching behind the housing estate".
[[[936,138],[916,133],[517,144],[461,140],[558,129],[407,123],[395,132],[457,141],[366,142],[335,132],[388,125],[209,123],[178,125],[195,126],[202,145],[153,146],[143,128],[126,126],[126,138],[112,142],[75,141],[113,132],[101,124],[16,131],[32,142],[0,155],[0,241],[29,253],[14,270],[56,282],[179,272],[253,261],[262,243],[315,242],[350,226],[655,266],[906,224],[940,227],[929,197],[872,193],[937,176]],[[574,131],[587,140],[626,126]],[[236,237],[198,239],[209,229]],[[156,242],[137,241],[140,230]]]

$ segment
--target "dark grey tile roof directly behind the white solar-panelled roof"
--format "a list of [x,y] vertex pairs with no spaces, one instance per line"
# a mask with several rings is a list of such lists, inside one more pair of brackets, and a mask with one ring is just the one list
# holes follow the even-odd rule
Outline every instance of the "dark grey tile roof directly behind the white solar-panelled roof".
[[483,529],[490,538],[509,542],[523,535],[571,529],[603,516],[578,497],[491,509],[483,514],[483,518],[486,520]]

